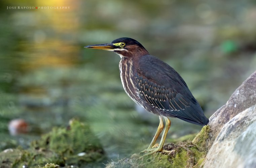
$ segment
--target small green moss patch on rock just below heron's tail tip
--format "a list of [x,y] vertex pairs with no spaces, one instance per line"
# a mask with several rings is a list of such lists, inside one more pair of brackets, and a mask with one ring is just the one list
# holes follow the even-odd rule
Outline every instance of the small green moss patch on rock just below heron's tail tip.
[[200,146],[200,148],[206,150],[207,139],[209,138],[210,131],[211,130],[209,125],[204,126],[202,130],[195,136],[192,142],[197,146]]

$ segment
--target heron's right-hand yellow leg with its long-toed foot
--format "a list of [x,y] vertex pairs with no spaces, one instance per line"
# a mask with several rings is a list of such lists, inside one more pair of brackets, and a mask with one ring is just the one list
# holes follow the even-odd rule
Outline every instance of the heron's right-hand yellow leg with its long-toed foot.
[[[171,127],[171,121],[167,117],[163,117],[163,118],[165,120],[166,125],[165,125],[164,131],[163,131],[163,135],[162,135],[162,138],[161,138],[161,141],[159,143],[158,148],[144,150],[143,152],[149,152],[149,153],[143,155],[142,157],[154,154],[156,152],[161,152],[163,150],[163,144],[164,144],[164,141],[166,139],[166,135],[167,135],[167,133],[168,133],[170,127]],[[140,158],[142,158],[142,157],[140,157]]]

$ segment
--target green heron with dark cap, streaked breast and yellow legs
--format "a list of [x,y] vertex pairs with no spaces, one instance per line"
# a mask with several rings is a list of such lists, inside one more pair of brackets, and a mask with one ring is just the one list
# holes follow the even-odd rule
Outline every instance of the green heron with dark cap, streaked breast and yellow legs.
[[[168,117],[202,126],[208,124],[208,118],[182,77],[168,64],[150,55],[138,41],[118,38],[109,44],[88,45],[85,48],[117,53],[121,57],[119,70],[125,92],[146,111],[159,116],[157,131],[148,149],[142,151],[148,152],[145,155],[163,151],[163,143],[171,126]],[[165,129],[155,148],[163,130],[163,119]]]

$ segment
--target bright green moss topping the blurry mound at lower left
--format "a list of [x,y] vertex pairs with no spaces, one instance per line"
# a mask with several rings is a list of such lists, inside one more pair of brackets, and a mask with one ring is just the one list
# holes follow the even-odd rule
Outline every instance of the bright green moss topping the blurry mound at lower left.
[[91,132],[89,125],[77,120],[72,120],[69,128],[53,128],[40,140],[34,141],[32,146],[58,151],[64,156],[88,151],[103,152],[99,139]]

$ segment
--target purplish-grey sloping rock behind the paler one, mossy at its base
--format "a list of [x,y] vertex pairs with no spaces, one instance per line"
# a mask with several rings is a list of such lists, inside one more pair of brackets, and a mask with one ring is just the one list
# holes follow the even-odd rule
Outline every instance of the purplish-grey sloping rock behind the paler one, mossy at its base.
[[254,104],[256,104],[256,71],[234,91],[227,103],[210,117],[207,133],[202,129],[193,143],[208,151],[222,127]]

